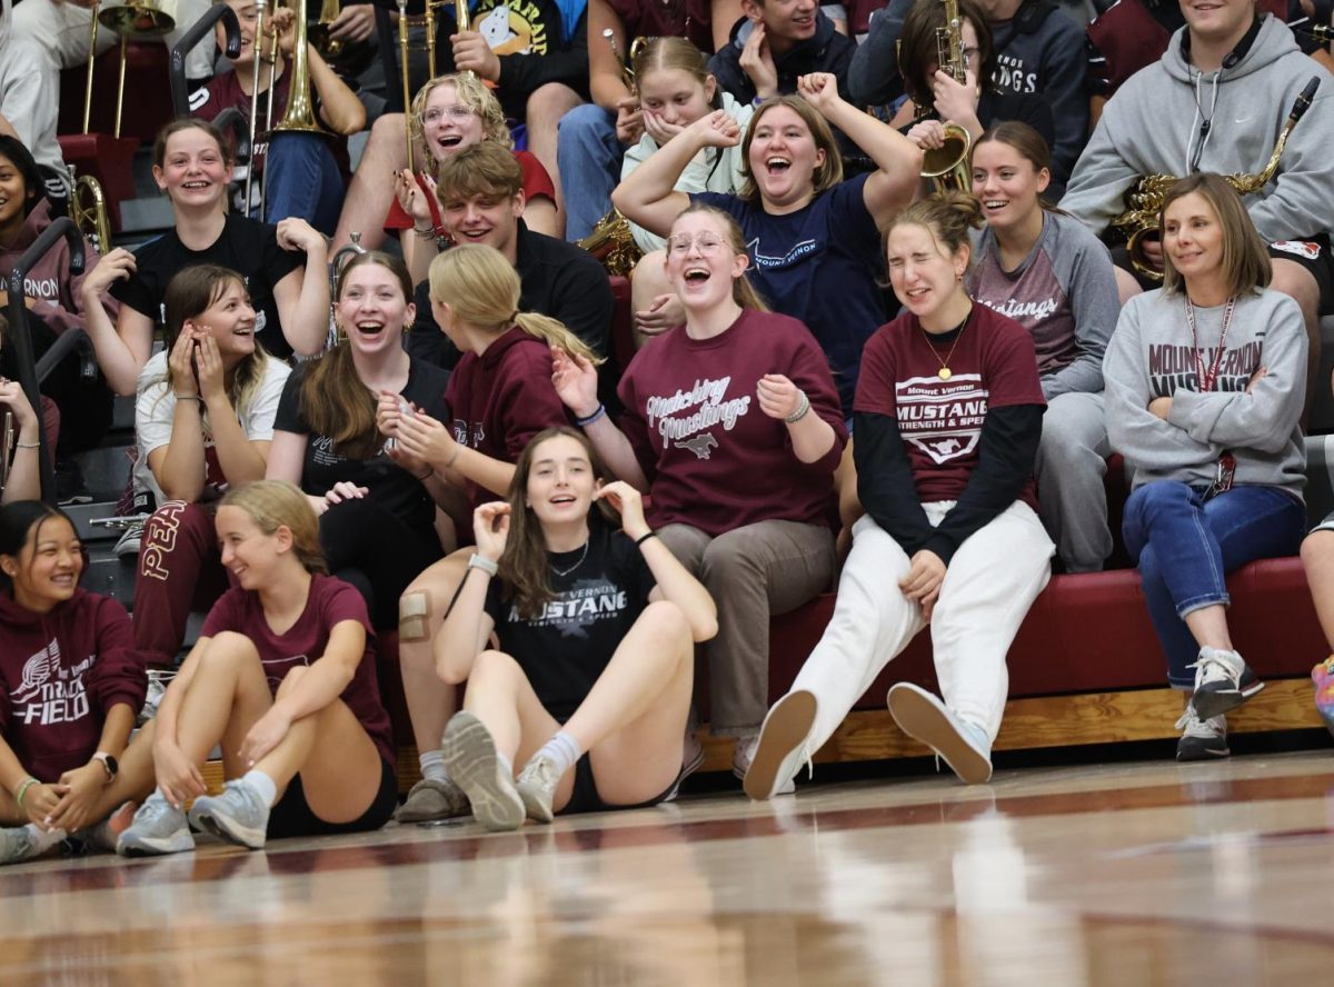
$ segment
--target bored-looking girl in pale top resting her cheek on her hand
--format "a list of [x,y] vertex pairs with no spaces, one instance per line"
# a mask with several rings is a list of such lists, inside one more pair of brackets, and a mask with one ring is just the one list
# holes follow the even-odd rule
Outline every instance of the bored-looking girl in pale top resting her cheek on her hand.
[[[635,59],[639,113],[644,136],[626,151],[622,181],[648,160],[663,144],[714,109],[724,111],[736,127],[746,128],[752,107],[743,107],[730,92],[722,92],[708,73],[700,51],[679,37],[655,37]],[[686,165],[676,191],[735,195],[746,184],[739,147],[704,148]],[[675,328],[683,321],[680,300],[666,279],[663,237],[634,223],[635,245],[644,252],[630,281],[631,311],[635,313],[635,341]]]

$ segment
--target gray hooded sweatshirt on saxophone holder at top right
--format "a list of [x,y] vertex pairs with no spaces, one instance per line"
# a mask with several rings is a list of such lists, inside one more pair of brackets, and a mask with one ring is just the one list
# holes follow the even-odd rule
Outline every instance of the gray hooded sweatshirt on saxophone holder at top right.
[[1270,241],[1334,228],[1330,73],[1302,55],[1287,25],[1269,15],[1250,51],[1217,72],[1198,72],[1185,60],[1183,31],[1173,35],[1162,59],[1107,101],[1061,208],[1102,232],[1123,211],[1123,195],[1141,175],[1189,175],[1193,161],[1198,171],[1225,175],[1261,171],[1297,95],[1319,76],[1321,88],[1287,141],[1277,177],[1247,196],[1246,205]]

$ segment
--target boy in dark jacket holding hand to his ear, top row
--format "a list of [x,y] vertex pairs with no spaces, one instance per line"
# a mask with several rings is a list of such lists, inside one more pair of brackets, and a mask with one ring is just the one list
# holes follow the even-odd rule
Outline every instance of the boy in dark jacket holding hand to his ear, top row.
[[798,92],[798,80],[812,72],[827,72],[847,92],[856,41],[834,29],[816,0],[742,0],[742,12],[728,43],[708,60],[738,103]]

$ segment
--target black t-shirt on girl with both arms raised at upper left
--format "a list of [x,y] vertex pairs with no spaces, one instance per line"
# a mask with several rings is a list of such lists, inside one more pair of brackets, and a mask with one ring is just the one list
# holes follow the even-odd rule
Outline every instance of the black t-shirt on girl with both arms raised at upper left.
[[292,347],[273,301],[273,285],[297,268],[305,267],[304,251],[284,251],[277,245],[277,227],[235,213],[227,215],[223,233],[209,247],[192,251],[175,229],[149,240],[135,252],[136,271],[128,281],[116,281],[111,293],[123,304],[163,324],[163,297],[167,283],[195,264],[221,264],[245,279],[251,304],[257,316],[255,337],[268,352],[287,359]]

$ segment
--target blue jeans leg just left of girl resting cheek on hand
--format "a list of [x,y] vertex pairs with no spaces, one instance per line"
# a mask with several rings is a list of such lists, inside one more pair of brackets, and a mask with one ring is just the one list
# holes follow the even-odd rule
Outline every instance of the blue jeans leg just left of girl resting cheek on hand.
[[556,163],[566,195],[566,239],[582,240],[611,211],[626,148],[616,140],[616,115],[596,103],[575,107],[556,129]]

